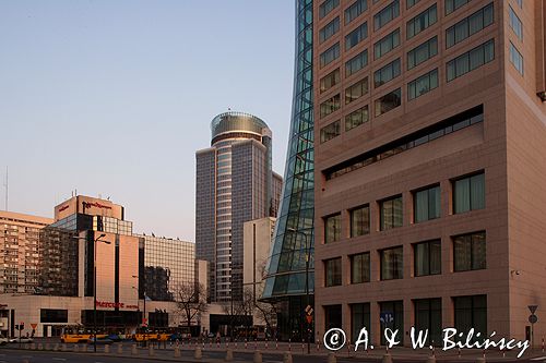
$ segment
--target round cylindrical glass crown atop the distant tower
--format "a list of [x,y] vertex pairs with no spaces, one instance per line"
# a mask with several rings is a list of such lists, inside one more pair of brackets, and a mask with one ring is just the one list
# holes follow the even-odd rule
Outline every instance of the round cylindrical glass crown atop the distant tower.
[[[266,129],[266,130],[264,130]],[[228,134],[250,133],[256,135],[271,135],[268,124],[260,118],[245,112],[228,111],[216,116],[211,122],[212,144]],[[224,137],[218,137],[223,135]]]

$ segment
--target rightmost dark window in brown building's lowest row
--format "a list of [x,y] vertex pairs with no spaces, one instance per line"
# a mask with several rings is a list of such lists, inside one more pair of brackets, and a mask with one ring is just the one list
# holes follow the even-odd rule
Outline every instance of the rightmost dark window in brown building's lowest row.
[[[474,340],[482,340],[487,335],[487,295],[455,297],[453,308],[458,331],[474,329]],[[476,338],[476,334],[480,337]]]

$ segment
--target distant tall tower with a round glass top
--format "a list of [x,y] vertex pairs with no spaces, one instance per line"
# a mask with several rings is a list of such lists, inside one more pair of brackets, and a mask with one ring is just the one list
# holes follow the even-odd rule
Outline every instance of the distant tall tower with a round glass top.
[[261,119],[225,112],[211,130],[211,147],[195,154],[195,255],[209,261],[211,301],[241,300],[244,223],[276,216],[282,178],[272,171],[271,130]]

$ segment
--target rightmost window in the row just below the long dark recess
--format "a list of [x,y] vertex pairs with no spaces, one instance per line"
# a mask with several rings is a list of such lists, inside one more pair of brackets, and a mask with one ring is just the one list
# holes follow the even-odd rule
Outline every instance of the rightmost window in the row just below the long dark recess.
[[485,208],[485,174],[462,178],[453,181],[453,213]]

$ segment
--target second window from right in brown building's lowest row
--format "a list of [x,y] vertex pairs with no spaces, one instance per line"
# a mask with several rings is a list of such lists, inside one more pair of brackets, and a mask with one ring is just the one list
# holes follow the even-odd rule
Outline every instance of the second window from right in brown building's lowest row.
[[442,341],[442,300],[418,299],[413,301],[415,311],[415,329],[428,330],[426,344],[439,346]]

